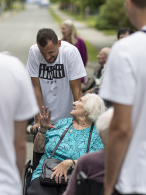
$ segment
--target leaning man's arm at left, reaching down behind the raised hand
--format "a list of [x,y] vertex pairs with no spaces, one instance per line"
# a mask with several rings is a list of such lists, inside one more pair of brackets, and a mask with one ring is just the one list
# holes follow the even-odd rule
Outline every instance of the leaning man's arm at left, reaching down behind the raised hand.
[[[41,110],[42,109],[42,91],[41,91],[39,78],[32,77],[31,80],[32,80],[32,83],[34,86],[35,95],[37,98],[39,109]],[[30,129],[31,133],[34,133],[35,127],[39,127],[39,126],[40,126],[40,116],[39,116],[39,114],[37,114],[35,116],[35,125],[33,125]]]

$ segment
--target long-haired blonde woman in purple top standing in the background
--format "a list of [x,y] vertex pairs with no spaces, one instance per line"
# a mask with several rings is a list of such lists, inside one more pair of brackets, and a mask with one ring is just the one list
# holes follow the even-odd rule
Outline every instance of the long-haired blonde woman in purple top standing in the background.
[[[81,54],[84,66],[86,66],[87,58],[88,58],[86,45],[80,37],[77,37],[76,29],[75,29],[73,22],[71,20],[65,20],[64,22],[62,22],[61,32],[63,35],[62,37],[63,41],[67,41],[78,48]],[[84,77],[81,78],[81,83],[84,83]]]

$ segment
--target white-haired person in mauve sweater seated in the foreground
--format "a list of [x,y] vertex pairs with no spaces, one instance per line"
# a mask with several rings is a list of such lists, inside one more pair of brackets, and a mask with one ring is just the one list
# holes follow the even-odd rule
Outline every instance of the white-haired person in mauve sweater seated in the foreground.
[[[102,139],[104,146],[106,146],[106,140],[108,135],[108,129],[113,117],[114,110],[110,108],[104,112],[96,122],[96,128]],[[87,177],[97,183],[103,183],[104,181],[104,160],[105,149],[93,152],[91,154],[83,155],[79,158],[78,163],[72,173],[68,187],[63,195],[75,195],[76,194],[76,178],[80,171],[83,171]],[[99,194],[97,192],[97,194]],[[90,195],[90,194],[89,194]]]

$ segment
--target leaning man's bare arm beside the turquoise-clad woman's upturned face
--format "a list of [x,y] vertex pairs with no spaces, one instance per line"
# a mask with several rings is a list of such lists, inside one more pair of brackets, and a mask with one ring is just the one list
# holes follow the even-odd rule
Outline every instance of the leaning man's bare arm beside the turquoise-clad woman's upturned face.
[[70,81],[70,87],[72,89],[74,101],[79,100],[80,97],[83,96],[82,89],[81,89],[81,79]]

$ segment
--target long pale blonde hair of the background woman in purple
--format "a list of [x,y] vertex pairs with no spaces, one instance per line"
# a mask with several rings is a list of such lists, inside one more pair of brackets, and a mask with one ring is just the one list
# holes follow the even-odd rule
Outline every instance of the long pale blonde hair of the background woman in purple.
[[62,22],[62,24],[65,24],[66,27],[71,30],[71,44],[75,45],[76,44],[76,29],[71,20],[65,20]]

